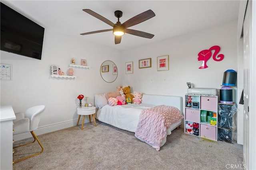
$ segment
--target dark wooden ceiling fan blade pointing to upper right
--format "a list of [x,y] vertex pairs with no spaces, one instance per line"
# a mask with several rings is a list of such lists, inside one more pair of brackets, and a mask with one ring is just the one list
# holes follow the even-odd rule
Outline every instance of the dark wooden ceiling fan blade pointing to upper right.
[[124,23],[122,23],[122,25],[124,26],[124,28],[128,28],[138,23],[144,22],[154,16],[156,16],[156,14],[152,10],[147,10],[125,21]]

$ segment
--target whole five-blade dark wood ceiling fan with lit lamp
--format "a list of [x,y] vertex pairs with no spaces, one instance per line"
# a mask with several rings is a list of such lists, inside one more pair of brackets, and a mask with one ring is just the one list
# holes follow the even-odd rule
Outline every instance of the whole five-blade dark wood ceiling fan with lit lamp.
[[138,30],[134,30],[134,29],[128,29],[128,27],[134,26],[138,23],[142,23],[142,22],[156,16],[156,14],[152,10],[147,10],[145,12],[142,12],[141,14],[138,14],[138,15],[130,18],[129,20],[125,21],[124,23],[121,23],[119,21],[119,18],[121,18],[123,15],[122,11],[114,12],[116,18],[118,18],[118,21],[116,23],[111,22],[110,20],[104,18],[103,16],[97,14],[96,12],[93,12],[92,10],[84,9],[83,11],[98,18],[99,20],[105,22],[106,24],[112,26],[113,28],[112,29],[103,29],[103,30],[99,30],[99,31],[92,31],[92,32],[88,32],[88,33],[81,33],[80,35],[88,35],[88,34],[93,34],[93,33],[113,31],[113,34],[115,35],[115,44],[119,44],[121,42],[121,38],[122,38],[122,35],[124,35],[124,33],[136,35],[139,37],[149,38],[149,39],[154,37],[154,35],[150,34],[150,33],[138,31]]

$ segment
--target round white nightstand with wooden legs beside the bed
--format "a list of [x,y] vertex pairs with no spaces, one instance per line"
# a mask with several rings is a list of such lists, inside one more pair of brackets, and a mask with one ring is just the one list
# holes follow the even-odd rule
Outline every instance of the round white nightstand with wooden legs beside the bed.
[[82,108],[77,107],[77,114],[79,115],[79,117],[78,117],[76,125],[78,126],[80,117],[81,117],[81,115],[83,115],[82,127],[81,127],[81,130],[83,130],[84,129],[84,117],[85,117],[85,115],[89,115],[90,123],[91,123],[91,115],[92,115],[94,125],[97,126],[96,121],[95,121],[95,117],[94,117],[95,112],[96,112],[96,107],[94,107],[94,106],[92,106],[92,107],[82,107]]

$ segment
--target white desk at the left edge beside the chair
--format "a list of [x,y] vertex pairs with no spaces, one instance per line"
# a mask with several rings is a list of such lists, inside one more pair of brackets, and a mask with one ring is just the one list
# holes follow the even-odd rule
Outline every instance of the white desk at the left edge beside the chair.
[[12,126],[16,119],[12,106],[0,109],[0,169],[12,170]]

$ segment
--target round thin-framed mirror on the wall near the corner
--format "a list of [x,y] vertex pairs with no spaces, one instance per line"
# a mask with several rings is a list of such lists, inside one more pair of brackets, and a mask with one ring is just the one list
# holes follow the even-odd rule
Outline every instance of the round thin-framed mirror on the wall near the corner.
[[118,74],[117,66],[113,61],[106,60],[100,66],[100,76],[105,82],[112,83]]

